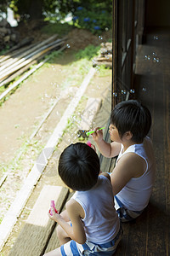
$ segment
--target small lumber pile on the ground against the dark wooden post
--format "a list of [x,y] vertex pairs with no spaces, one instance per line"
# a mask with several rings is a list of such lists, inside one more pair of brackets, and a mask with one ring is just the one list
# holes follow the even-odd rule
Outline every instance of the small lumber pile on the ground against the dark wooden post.
[[93,60],[93,67],[104,65],[112,67],[112,43],[102,43],[100,55]]

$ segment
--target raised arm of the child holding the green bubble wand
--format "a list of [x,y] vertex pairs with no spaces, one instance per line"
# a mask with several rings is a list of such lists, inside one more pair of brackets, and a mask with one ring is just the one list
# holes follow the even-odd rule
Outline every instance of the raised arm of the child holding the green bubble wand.
[[101,154],[103,154],[107,158],[111,158],[111,157],[115,157],[120,153],[120,150],[121,150],[120,143],[116,143],[116,142],[105,143],[103,139],[103,131],[98,130],[98,128],[96,128],[94,131],[95,132],[91,134],[91,136],[93,137],[94,142],[97,144],[99,148],[99,152]]

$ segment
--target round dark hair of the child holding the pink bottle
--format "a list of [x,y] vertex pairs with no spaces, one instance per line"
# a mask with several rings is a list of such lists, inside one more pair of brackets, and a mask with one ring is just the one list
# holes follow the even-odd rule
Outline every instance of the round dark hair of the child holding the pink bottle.
[[59,157],[59,176],[73,190],[92,189],[99,171],[98,154],[86,143],[71,144]]

